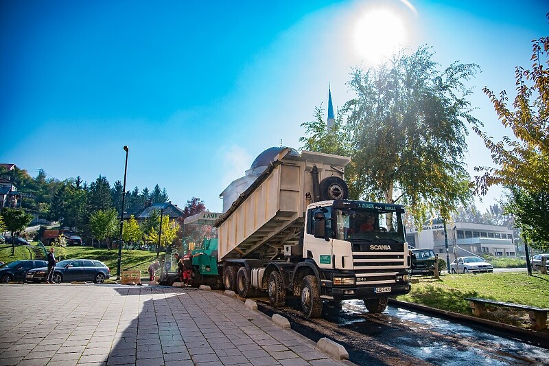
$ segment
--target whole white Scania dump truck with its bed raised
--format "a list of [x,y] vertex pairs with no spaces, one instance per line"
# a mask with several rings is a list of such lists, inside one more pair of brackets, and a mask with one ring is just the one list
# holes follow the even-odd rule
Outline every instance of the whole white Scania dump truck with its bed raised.
[[[383,312],[388,296],[410,292],[404,207],[348,199],[350,161],[279,150],[215,221],[217,258],[203,263],[216,267],[226,290],[265,291],[274,307],[301,297],[309,318],[320,316],[323,301],[362,299],[370,312]],[[197,270],[195,286],[207,278]]]

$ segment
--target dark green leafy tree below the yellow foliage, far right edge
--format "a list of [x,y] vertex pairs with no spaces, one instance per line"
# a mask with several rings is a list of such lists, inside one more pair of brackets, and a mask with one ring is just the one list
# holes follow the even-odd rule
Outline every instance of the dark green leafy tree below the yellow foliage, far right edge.
[[549,192],[525,190],[520,187],[507,189],[506,214],[512,214],[522,237],[528,245],[541,251],[549,250]]

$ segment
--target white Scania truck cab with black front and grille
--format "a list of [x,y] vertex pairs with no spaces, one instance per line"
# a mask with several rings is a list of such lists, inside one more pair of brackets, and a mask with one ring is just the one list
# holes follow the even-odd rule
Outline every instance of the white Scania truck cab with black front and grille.
[[376,299],[410,291],[404,207],[336,200],[307,207],[303,257],[320,270],[326,299]]

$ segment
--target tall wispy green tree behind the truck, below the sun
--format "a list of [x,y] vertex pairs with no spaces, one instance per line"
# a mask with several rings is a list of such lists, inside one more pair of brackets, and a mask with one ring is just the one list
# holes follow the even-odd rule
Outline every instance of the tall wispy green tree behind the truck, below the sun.
[[320,141],[331,133],[327,126],[305,123],[318,137],[305,139],[304,148],[351,157],[345,172],[351,198],[401,200],[417,226],[429,211],[449,218],[471,200],[465,122],[480,123],[470,114],[464,84],[478,66],[454,62],[440,72],[432,56],[422,46],[410,56],[401,50],[379,67],[355,69],[348,84],[356,98],[338,111],[343,116],[330,146]]

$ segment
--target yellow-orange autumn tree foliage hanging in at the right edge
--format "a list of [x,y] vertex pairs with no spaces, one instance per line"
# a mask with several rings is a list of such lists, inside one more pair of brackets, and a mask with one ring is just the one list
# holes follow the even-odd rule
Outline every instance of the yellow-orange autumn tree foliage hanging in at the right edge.
[[522,187],[533,194],[549,192],[549,69],[544,69],[544,64],[549,65],[548,52],[549,37],[534,40],[532,68],[516,67],[514,111],[508,106],[506,91],[498,98],[487,87],[483,89],[502,125],[511,128],[514,137],[505,136],[496,143],[480,126],[474,128],[497,165],[497,168],[475,168],[482,174],[475,177],[476,191],[480,194],[498,184]]

